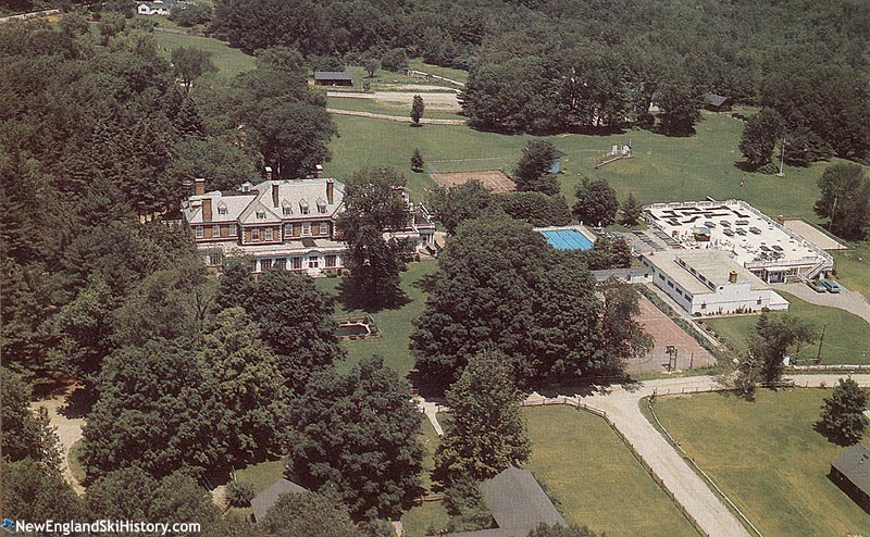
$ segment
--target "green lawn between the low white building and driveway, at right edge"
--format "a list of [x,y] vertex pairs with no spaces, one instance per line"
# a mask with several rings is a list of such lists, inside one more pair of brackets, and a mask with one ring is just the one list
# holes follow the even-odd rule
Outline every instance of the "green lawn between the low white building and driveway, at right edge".
[[[870,324],[857,315],[836,308],[816,305],[805,302],[794,295],[780,292],[790,302],[788,312],[812,323],[819,329],[824,327],[822,341],[822,363],[829,364],[868,364],[870,363]],[[771,315],[782,313],[772,312]],[[743,352],[746,349],[746,337],[755,329],[757,315],[705,319],[725,341],[734,349]],[[800,350],[799,359],[816,358],[818,344]]]

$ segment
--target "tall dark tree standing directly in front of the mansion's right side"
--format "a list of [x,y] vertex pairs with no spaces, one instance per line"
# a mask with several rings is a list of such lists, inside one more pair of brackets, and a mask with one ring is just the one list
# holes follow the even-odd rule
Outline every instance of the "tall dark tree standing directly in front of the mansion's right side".
[[348,243],[347,286],[356,304],[380,308],[402,298],[399,248],[387,243],[383,234],[408,224],[403,187],[405,176],[390,168],[360,170],[347,180],[338,230]]

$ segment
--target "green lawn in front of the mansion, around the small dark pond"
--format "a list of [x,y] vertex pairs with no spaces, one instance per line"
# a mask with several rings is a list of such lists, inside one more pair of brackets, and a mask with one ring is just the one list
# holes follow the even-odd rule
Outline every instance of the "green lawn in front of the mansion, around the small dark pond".
[[[410,302],[395,310],[383,310],[372,314],[382,336],[378,339],[362,339],[344,341],[347,349],[347,360],[338,364],[339,371],[348,371],[353,364],[365,357],[381,354],[384,362],[396,370],[400,375],[406,375],[413,366],[413,359],[408,350],[410,336],[413,332],[413,320],[423,312],[425,295],[413,284],[422,277],[434,273],[438,265],[434,261],[409,263],[408,271],[401,274],[401,288],[408,295]],[[319,278],[315,280],[321,290],[337,295],[339,278]],[[336,313],[346,315],[356,313],[347,311],[337,304]]]

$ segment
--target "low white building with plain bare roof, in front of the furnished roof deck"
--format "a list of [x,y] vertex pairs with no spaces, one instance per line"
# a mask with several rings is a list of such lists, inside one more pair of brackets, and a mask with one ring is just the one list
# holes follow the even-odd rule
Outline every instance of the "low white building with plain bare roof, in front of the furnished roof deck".
[[656,286],[692,315],[787,310],[788,301],[726,251],[662,250],[641,257]]

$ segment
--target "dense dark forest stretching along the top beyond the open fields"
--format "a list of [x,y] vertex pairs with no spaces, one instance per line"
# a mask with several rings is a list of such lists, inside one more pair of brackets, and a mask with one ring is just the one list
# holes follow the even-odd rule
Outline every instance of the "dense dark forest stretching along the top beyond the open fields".
[[312,63],[396,49],[470,71],[472,126],[517,133],[649,126],[691,134],[705,92],[775,110],[790,163],[870,158],[870,15],[859,0],[219,0],[214,29],[248,52]]

